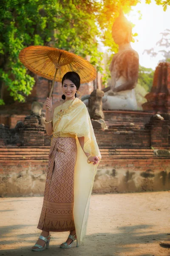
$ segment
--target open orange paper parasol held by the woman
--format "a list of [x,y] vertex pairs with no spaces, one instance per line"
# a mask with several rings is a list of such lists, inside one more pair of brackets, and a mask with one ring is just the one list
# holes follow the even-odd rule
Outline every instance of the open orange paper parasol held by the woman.
[[39,76],[53,80],[50,96],[52,95],[54,81],[61,82],[68,71],[77,72],[81,84],[93,81],[96,70],[84,58],[62,49],[48,46],[29,46],[20,51],[20,61]]

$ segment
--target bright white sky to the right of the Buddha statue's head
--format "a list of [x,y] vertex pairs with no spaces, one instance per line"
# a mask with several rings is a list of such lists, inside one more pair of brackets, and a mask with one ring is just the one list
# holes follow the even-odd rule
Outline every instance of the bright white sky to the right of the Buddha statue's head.
[[[152,58],[143,52],[145,49],[155,47],[156,42],[161,39],[160,33],[165,29],[170,29],[170,6],[167,6],[167,10],[164,12],[162,6],[157,6],[155,1],[152,1],[150,5],[145,4],[144,0],[141,2],[132,7],[133,10],[130,14],[125,15],[129,21],[136,25],[133,28],[133,33],[138,33],[131,46],[139,54],[139,63],[155,70],[159,60],[162,59],[161,54]],[[142,14],[141,20],[139,20],[138,10]]]

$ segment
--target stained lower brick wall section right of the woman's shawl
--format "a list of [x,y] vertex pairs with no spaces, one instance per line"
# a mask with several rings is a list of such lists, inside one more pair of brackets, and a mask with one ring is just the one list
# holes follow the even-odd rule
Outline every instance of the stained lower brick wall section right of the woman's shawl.
[[99,164],[93,191],[141,192],[170,189],[170,159],[103,160]]

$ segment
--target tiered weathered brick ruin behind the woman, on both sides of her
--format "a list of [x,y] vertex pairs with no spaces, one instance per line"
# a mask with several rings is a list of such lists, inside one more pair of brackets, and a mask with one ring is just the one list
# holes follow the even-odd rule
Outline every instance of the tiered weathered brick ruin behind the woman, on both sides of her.
[[[94,128],[102,154],[94,192],[170,189],[170,115],[162,107],[144,108],[103,111],[106,128]],[[1,113],[0,196],[43,195],[51,141],[45,114],[35,114],[30,105],[22,113],[5,115]]]

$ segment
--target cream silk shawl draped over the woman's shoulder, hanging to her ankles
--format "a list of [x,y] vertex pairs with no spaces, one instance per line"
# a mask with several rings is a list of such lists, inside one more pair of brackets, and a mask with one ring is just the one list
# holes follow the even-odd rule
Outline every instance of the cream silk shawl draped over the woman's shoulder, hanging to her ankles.
[[[68,110],[69,105],[71,105],[71,108]],[[61,109],[68,110],[68,112],[59,121],[57,113]],[[98,164],[93,165],[93,163],[87,163],[87,157],[79,144],[78,137],[85,137],[83,148],[85,152],[93,156],[98,156],[99,161],[101,160],[101,154],[96,143],[88,109],[80,99],[76,98],[74,102],[73,100],[68,100],[62,106],[60,105],[55,108],[52,125],[53,131],[62,131],[63,133],[76,135],[77,160],[74,170],[73,213],[77,240],[81,244],[86,235],[90,197]]]

